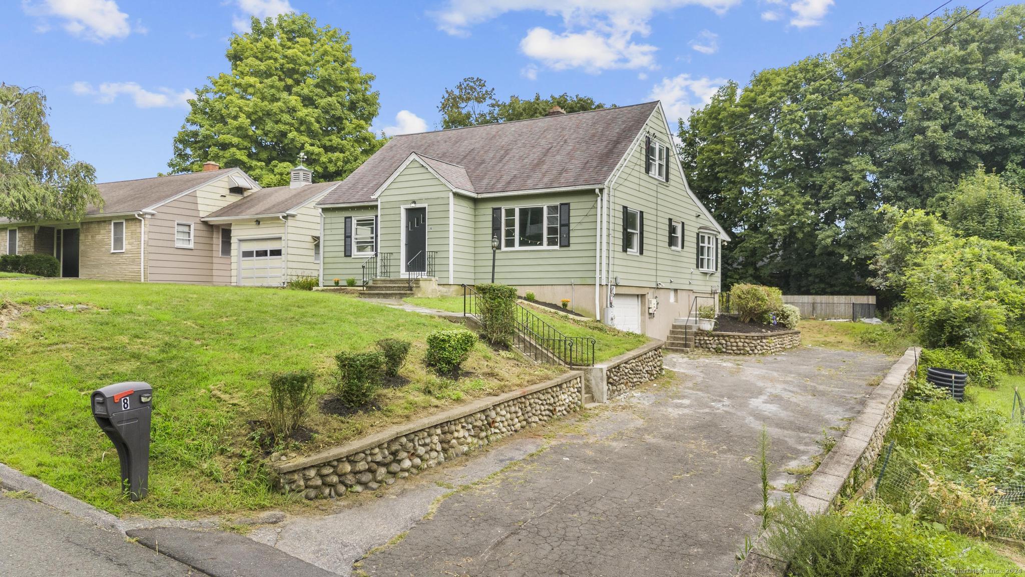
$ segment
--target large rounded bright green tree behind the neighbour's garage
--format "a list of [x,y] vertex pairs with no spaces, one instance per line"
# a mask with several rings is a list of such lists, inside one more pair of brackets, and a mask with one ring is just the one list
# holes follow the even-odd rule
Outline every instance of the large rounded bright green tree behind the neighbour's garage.
[[204,161],[241,167],[263,186],[288,182],[300,152],[320,181],[343,179],[383,141],[370,131],[378,112],[372,74],[356,66],[348,35],[287,13],[233,36],[230,73],[209,77],[189,101],[174,138],[172,172]]

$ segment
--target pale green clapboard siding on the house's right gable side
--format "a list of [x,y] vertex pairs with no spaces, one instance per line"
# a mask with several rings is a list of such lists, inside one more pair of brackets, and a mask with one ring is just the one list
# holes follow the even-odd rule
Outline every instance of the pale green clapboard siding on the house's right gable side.
[[[671,149],[672,141],[658,109],[648,120],[645,130]],[[654,287],[656,282],[661,282],[666,288],[687,288],[699,293],[719,291],[720,273],[698,272],[695,247],[698,228],[704,226],[714,230],[715,225],[702,215],[701,208],[687,193],[676,166],[670,163],[668,183],[648,176],[645,171],[644,145],[642,137],[612,185],[609,230],[612,236],[612,276],[618,276],[620,284],[629,286]],[[623,205],[644,210],[644,255],[622,251]],[[668,246],[670,218],[684,223],[682,251]]]

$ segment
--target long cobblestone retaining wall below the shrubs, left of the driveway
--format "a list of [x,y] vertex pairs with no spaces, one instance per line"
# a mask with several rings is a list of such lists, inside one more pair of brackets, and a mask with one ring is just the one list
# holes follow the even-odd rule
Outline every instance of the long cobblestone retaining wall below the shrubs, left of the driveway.
[[374,491],[525,427],[577,411],[582,391],[583,374],[574,371],[310,457],[276,453],[271,456],[277,472],[275,489],[302,493],[306,499]]

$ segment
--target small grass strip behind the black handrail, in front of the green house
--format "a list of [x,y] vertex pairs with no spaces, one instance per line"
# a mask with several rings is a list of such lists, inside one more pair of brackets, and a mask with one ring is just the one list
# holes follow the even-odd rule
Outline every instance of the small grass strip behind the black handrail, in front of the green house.
[[[406,299],[406,302],[426,308],[449,312],[462,312],[462,297],[412,297]],[[648,337],[644,335],[619,331],[593,318],[571,316],[539,305],[528,304],[526,306],[530,307],[545,322],[567,337],[593,338],[596,362],[618,356],[649,341]]]

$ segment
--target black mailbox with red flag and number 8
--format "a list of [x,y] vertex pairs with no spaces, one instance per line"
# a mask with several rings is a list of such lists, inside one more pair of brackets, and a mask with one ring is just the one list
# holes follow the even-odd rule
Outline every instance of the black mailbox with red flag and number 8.
[[153,387],[147,383],[118,383],[92,393],[92,416],[118,450],[121,491],[132,501],[149,490],[152,412]]

